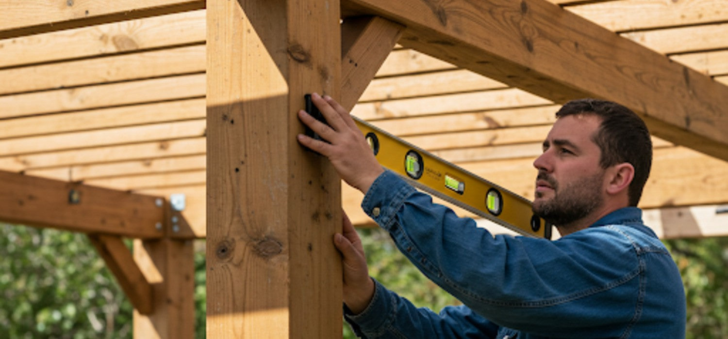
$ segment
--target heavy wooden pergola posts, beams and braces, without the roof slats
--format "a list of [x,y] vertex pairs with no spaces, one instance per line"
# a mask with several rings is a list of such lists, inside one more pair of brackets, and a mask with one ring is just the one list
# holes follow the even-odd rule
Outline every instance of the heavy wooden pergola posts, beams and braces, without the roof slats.
[[296,111],[313,91],[354,107],[397,42],[553,102],[620,102],[654,135],[728,160],[727,86],[546,0],[63,2],[7,0],[0,38],[207,8],[205,231],[162,197],[0,172],[0,220],[89,234],[139,338],[193,335],[197,237],[211,338],[341,335],[341,184],[297,144]]

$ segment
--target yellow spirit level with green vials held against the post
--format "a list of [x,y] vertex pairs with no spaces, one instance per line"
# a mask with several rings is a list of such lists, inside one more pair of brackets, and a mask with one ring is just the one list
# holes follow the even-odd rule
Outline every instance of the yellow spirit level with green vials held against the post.
[[551,238],[551,225],[531,202],[352,116],[381,166],[414,186],[520,234]]

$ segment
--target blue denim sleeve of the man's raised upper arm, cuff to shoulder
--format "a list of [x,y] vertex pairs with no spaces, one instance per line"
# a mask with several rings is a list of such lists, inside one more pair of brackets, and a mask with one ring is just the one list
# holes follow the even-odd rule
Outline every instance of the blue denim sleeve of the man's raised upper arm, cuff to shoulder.
[[494,237],[391,171],[362,208],[429,279],[500,326],[564,336],[632,321],[633,311],[612,306],[637,300],[640,267],[630,242],[606,227],[554,242]]

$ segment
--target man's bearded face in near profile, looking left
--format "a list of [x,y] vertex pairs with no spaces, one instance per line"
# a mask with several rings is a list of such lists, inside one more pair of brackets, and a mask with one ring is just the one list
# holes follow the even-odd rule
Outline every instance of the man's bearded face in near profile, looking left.
[[601,150],[591,139],[598,130],[596,115],[558,118],[534,161],[539,170],[533,210],[551,224],[577,221],[604,202]]

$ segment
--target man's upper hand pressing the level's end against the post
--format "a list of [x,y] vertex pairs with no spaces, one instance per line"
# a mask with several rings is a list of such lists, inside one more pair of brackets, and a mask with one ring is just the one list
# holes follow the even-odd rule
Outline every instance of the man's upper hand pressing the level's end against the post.
[[376,177],[384,172],[374,158],[371,147],[354,119],[338,102],[316,93],[311,95],[311,100],[329,126],[317,121],[304,110],[298,111],[298,118],[329,143],[303,134],[298,134],[298,142],[331,160],[341,179],[366,193]]

